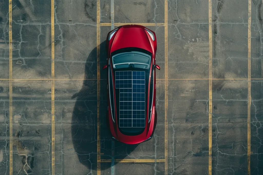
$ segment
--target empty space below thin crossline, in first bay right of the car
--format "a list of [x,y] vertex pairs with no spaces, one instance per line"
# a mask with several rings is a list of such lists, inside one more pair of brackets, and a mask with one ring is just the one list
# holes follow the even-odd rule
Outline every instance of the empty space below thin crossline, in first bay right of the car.
[[168,97],[168,172],[205,174],[209,151],[208,80],[169,80]]

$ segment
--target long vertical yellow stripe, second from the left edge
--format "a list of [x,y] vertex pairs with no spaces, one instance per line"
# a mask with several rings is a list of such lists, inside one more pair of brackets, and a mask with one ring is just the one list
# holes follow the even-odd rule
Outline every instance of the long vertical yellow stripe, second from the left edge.
[[55,40],[54,40],[54,0],[51,0],[51,114],[52,114],[52,175],[55,174]]

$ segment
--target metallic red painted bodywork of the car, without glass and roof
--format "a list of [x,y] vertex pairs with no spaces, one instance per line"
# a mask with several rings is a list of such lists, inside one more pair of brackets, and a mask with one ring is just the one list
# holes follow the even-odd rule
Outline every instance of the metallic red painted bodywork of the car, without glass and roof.
[[[156,49],[157,49],[156,35],[153,31],[150,30],[154,34],[155,40],[153,41],[145,29],[146,28],[144,26],[141,26],[141,25],[120,26],[120,27],[118,27],[118,30],[114,33],[114,35],[112,36],[110,41],[108,40],[108,37],[109,37],[109,34],[111,32],[109,32],[109,34],[107,36],[107,40],[106,40],[106,51],[107,51],[107,56],[108,56],[107,65],[109,65],[109,61],[111,61],[110,54],[113,51],[118,50],[118,49],[122,49],[122,48],[126,48],[126,47],[138,47],[138,48],[147,50],[147,51],[152,53],[152,62],[151,62],[151,69],[152,69],[153,65],[155,65],[155,54],[156,54]],[[113,72],[112,65],[108,68],[112,69],[112,72]],[[153,70],[151,70],[151,71],[153,71]],[[151,72],[150,72],[150,75],[151,75]],[[109,76],[107,76],[107,77],[109,78]],[[123,142],[123,143],[126,143],[126,144],[138,144],[138,143],[141,143],[141,142],[144,142],[144,141],[150,139],[150,137],[153,136],[155,126],[157,123],[157,113],[156,113],[156,109],[155,109],[155,97],[156,97],[156,79],[155,79],[155,77],[156,76],[155,76],[155,67],[154,67],[154,91],[153,91],[154,94],[153,94],[153,109],[152,109],[152,113],[151,113],[151,120],[148,123],[149,115],[146,115],[145,129],[144,129],[143,133],[141,133],[139,135],[135,135],[135,136],[124,135],[119,131],[117,113],[116,113],[116,103],[114,103],[115,104],[115,106],[114,106],[114,108],[115,108],[115,113],[114,113],[115,114],[115,116],[114,116],[115,122],[113,122],[112,114],[110,111],[109,91],[107,92],[107,94],[108,94],[107,122],[108,122],[110,132],[116,140]],[[150,83],[150,78],[149,78],[148,83]],[[107,81],[107,86],[109,86],[109,79]],[[114,100],[115,100],[115,84],[114,84],[114,81],[113,81],[113,86],[114,86]],[[149,100],[149,88],[148,88],[148,98],[147,99]],[[146,103],[147,103],[147,114],[149,114],[149,101]]]

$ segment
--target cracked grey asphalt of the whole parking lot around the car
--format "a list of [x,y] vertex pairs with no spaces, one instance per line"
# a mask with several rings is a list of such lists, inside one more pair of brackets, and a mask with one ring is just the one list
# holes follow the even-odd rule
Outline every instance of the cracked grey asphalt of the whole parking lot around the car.
[[[262,1],[251,1],[249,30],[249,0],[211,0],[211,138],[209,1],[170,0],[167,3],[167,109],[165,1],[114,0],[113,13],[112,1],[100,0],[99,7],[101,160],[165,160],[167,152],[168,174],[209,174],[210,139],[212,174],[263,174]],[[0,1],[1,175],[10,174],[10,139],[13,140],[13,174],[52,174],[51,8],[50,1],[12,1],[10,121],[9,1]],[[112,14],[114,23],[152,23],[147,28],[155,31],[157,38],[156,63],[161,67],[156,71],[158,123],[154,137],[138,145],[113,142],[106,127],[107,82],[102,66],[106,63],[105,39],[111,30]],[[248,49],[249,31],[251,50]],[[54,174],[165,174],[164,161],[101,162],[100,170],[97,169],[97,1],[55,0],[54,39]],[[9,123],[13,126],[12,138]],[[166,141],[168,150],[165,150]]]

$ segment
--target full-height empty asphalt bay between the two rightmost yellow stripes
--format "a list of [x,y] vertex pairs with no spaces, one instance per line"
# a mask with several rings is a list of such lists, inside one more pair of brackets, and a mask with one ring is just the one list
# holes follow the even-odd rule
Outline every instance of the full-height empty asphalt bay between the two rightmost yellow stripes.
[[213,78],[218,79],[212,84],[212,165],[216,174],[248,173],[248,11],[248,1],[226,1],[217,2],[212,15],[212,70]]

